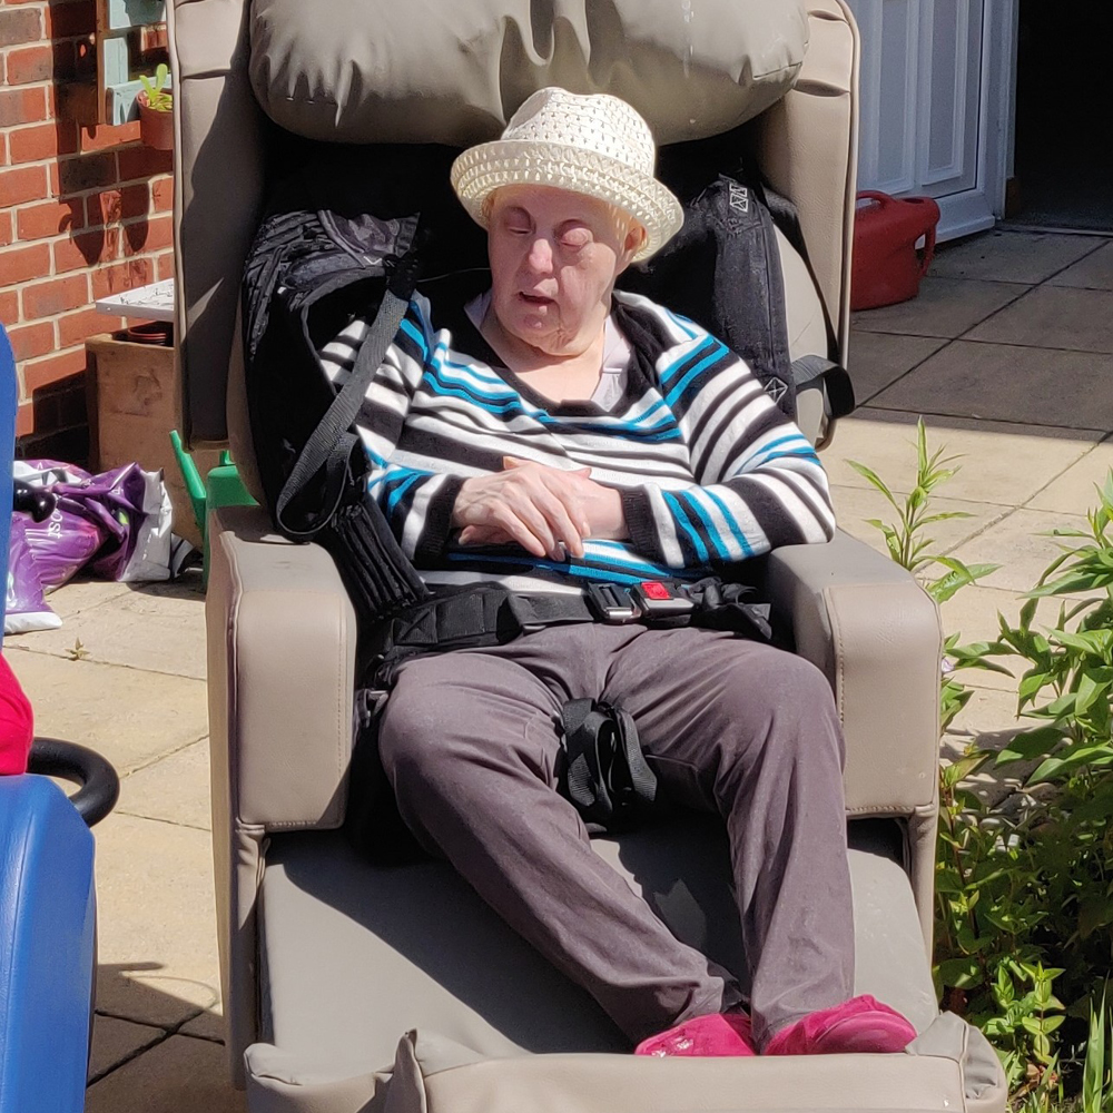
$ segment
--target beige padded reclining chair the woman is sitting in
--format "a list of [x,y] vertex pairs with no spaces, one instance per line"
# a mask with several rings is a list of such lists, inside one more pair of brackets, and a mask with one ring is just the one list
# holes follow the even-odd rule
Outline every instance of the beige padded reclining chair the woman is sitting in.
[[[756,117],[761,166],[799,208],[815,274],[782,243],[792,354],[826,352],[820,297],[845,353],[854,20],[841,0],[674,7],[174,0],[178,353],[191,442],[230,442],[254,482],[237,305],[277,127],[462,146],[498,134],[548,83],[627,96],[662,141]],[[469,33],[473,24],[483,33]],[[398,48],[415,28],[429,55],[417,58],[422,95],[407,91]],[[386,70],[402,73],[398,88],[376,86]],[[816,424],[814,406],[801,421]],[[355,629],[335,568],[323,550],[276,536],[259,509],[216,511],[209,536],[221,984],[232,1081],[255,1113],[1004,1109],[995,1056],[978,1033],[938,1016],[932,986],[940,636],[935,605],[890,561],[839,534],[774,553],[766,581],[843,717],[856,991],[912,1020],[915,1053],[656,1061],[629,1055],[593,1001],[447,866],[383,868],[353,854],[337,828]],[[725,839],[712,825],[594,845],[680,937],[740,968]]]

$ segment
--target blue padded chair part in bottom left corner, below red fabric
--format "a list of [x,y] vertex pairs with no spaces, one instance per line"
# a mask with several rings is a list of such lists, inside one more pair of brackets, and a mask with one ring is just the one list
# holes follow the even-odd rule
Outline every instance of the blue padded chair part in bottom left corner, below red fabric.
[[85,1109],[92,835],[46,777],[0,777],[0,1113]]

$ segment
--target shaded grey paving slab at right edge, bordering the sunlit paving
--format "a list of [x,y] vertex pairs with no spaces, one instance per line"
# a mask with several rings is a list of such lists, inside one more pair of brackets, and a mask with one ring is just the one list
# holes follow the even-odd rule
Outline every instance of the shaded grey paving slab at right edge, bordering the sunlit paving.
[[[1113,314],[1109,328],[1113,349]],[[870,405],[880,410],[1109,431],[1113,430],[1113,357],[1007,343],[954,341],[877,394]]]

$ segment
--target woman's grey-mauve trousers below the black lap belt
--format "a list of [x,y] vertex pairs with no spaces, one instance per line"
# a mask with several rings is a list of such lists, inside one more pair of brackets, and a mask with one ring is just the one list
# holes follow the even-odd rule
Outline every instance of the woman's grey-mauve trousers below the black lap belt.
[[726,824],[761,1046],[851,996],[843,736],[810,663],[709,630],[550,627],[406,663],[380,749],[406,824],[631,1040],[742,1003],[554,789],[560,707],[626,708],[669,799]]

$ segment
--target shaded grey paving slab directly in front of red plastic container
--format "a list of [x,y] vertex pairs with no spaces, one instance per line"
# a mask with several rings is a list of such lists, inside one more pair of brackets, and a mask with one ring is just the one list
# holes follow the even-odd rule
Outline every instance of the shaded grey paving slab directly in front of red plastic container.
[[1020,283],[928,276],[912,301],[855,313],[850,327],[902,336],[954,338],[1015,302],[1030,288]]

